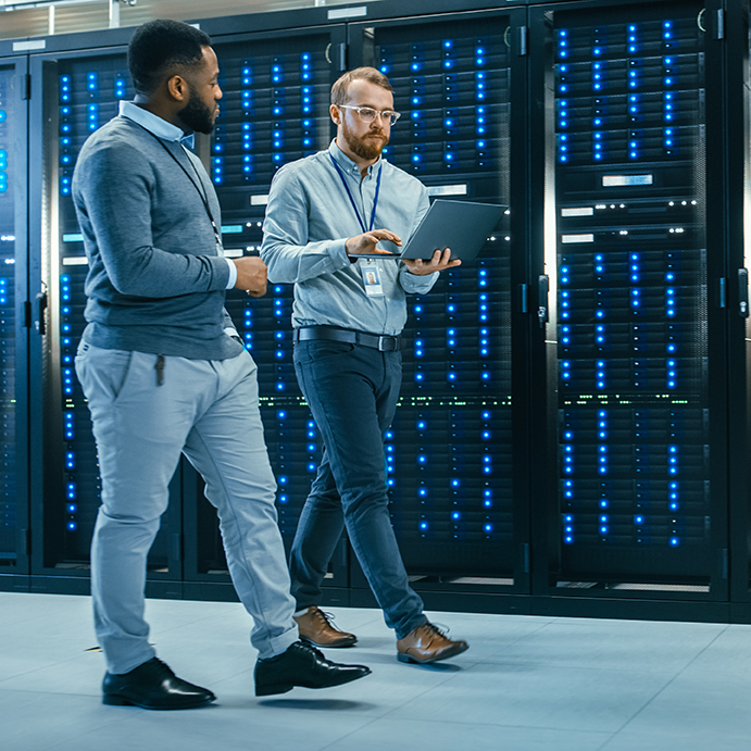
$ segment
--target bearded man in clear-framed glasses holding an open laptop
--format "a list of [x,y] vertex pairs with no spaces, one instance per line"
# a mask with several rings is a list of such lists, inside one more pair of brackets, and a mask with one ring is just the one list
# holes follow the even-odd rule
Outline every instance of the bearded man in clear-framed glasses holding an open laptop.
[[321,584],[346,527],[388,626],[397,658],[430,663],[467,649],[436,628],[409,585],[388,513],[384,433],[401,386],[400,334],[406,293],[424,295],[451,251],[429,262],[365,259],[402,245],[428,209],[425,187],[381,159],[399,118],[388,78],[372,67],[331,88],[337,136],[326,151],[274,177],[261,256],[273,283],[295,284],[295,371],[324,440],[298,524],[290,571],[300,636],[351,647],[321,604]]

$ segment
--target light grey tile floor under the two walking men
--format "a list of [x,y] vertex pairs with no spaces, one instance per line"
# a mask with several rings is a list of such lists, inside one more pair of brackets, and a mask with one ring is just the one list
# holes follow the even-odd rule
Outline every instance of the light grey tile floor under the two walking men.
[[367,678],[253,696],[249,616],[149,600],[159,655],[218,701],[104,706],[87,597],[0,592],[3,751],[750,751],[751,626],[430,613],[465,654],[395,659],[375,610],[331,609],[360,643],[329,650]]

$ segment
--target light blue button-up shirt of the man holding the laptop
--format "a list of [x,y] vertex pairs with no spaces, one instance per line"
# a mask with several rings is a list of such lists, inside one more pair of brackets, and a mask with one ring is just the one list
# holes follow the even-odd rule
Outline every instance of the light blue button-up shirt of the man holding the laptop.
[[[406,323],[406,293],[424,295],[438,273],[410,274],[392,259],[353,261],[347,239],[363,233],[347,190],[331,163],[337,161],[352,199],[366,222],[383,170],[374,229],[389,229],[406,245],[429,208],[427,189],[415,177],[379,159],[364,178],[336,145],[281,167],[272,182],[263,224],[261,258],[273,284],[295,284],[292,326],[341,326],[398,336]],[[362,265],[375,264],[384,295],[370,297]]]

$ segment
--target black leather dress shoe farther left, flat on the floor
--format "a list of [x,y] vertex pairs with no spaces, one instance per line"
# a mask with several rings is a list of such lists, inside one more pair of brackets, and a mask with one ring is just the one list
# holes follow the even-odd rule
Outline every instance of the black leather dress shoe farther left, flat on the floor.
[[104,674],[102,703],[134,704],[145,710],[189,710],[216,697],[178,678],[161,660],[151,658],[129,673]]

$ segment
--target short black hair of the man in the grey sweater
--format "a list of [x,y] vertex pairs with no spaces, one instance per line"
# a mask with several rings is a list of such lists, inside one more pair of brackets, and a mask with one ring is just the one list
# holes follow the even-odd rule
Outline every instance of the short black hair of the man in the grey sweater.
[[203,62],[211,38],[182,21],[158,18],[139,26],[128,45],[128,68],[136,91],[151,95],[171,68]]

